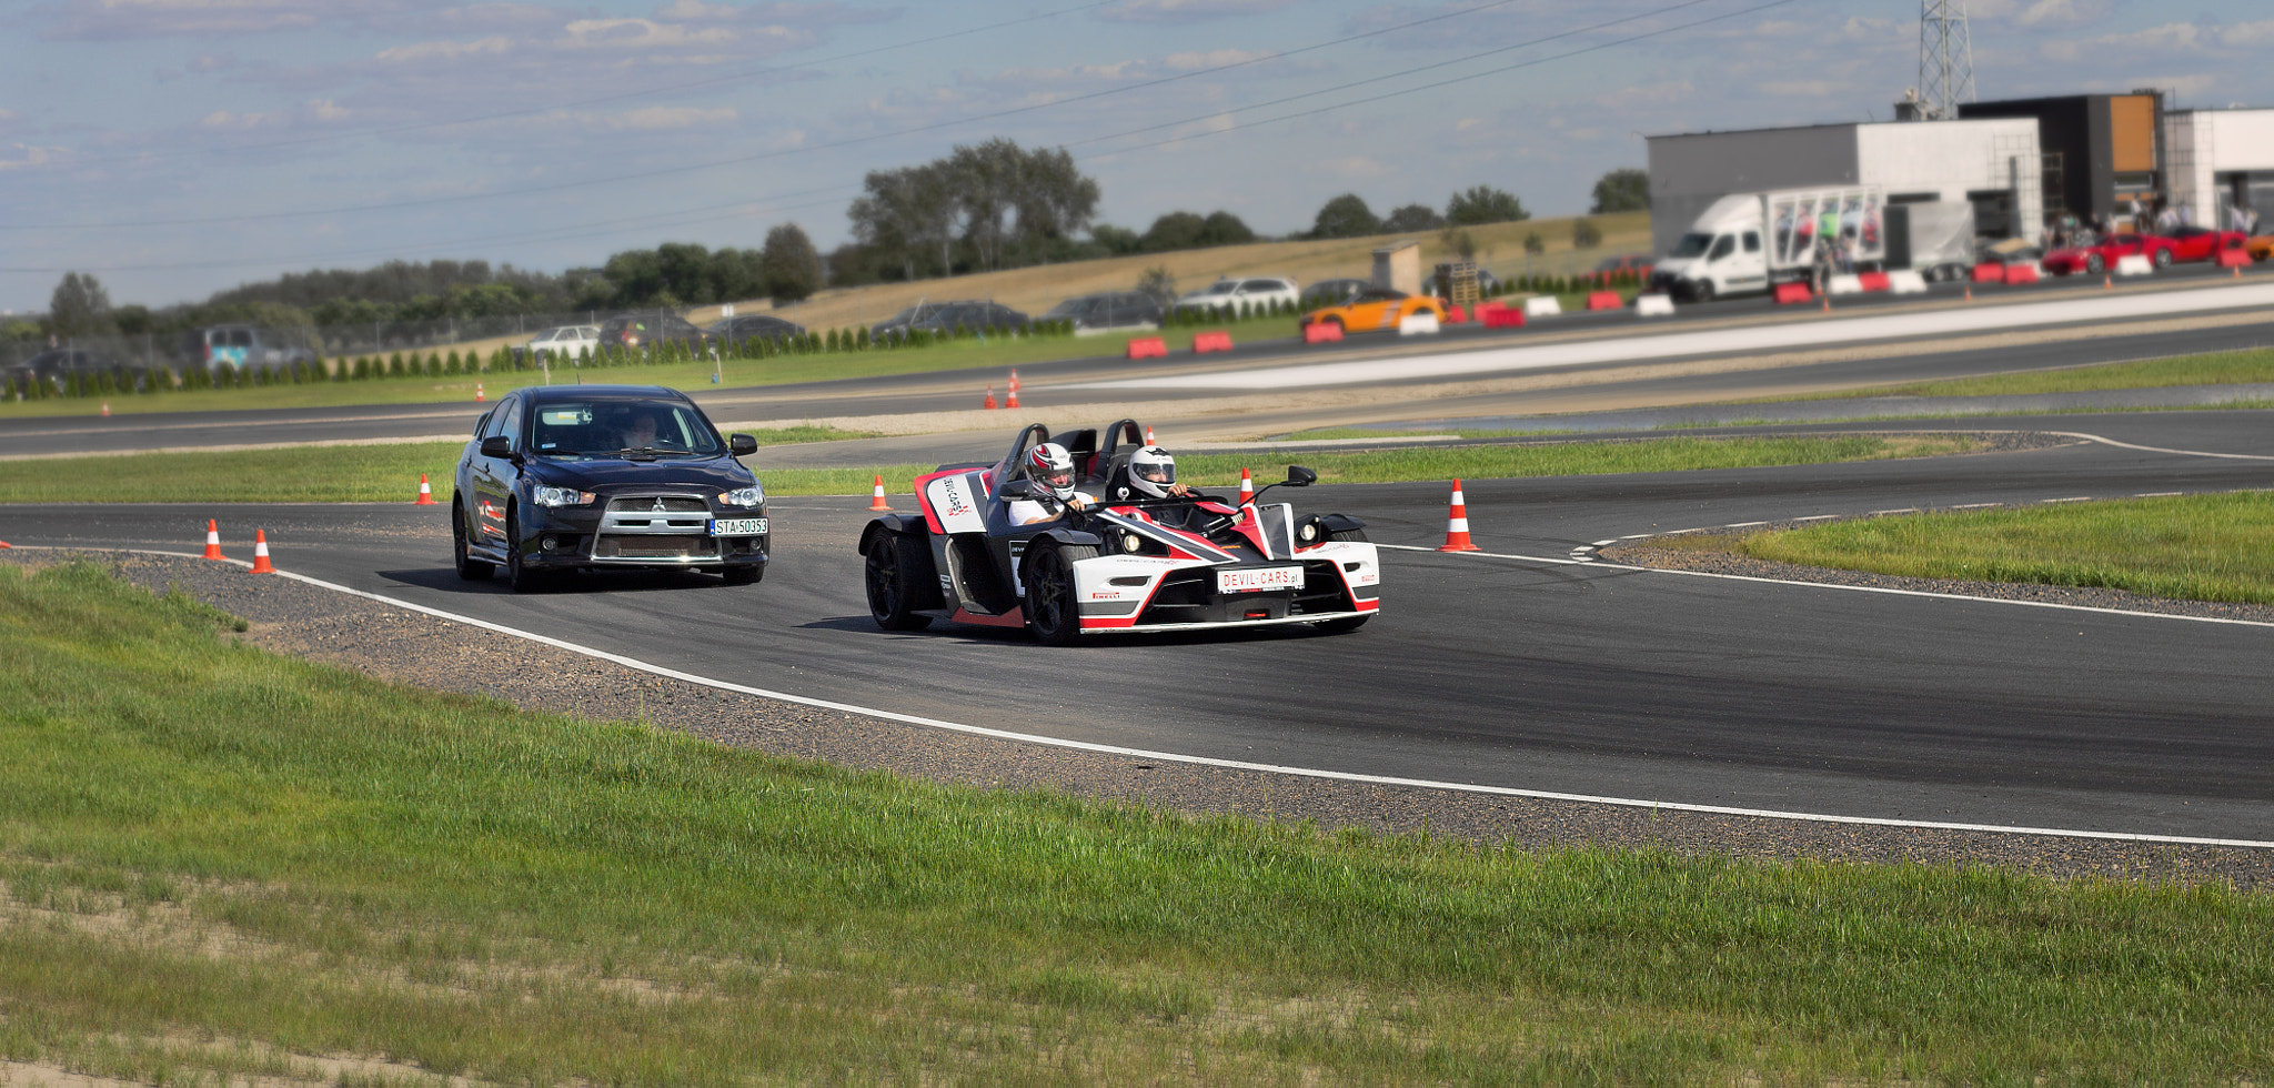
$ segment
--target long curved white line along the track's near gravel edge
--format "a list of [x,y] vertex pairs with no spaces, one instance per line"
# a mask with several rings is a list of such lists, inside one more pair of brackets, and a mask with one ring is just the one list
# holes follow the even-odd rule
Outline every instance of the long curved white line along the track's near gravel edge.
[[[50,547],[50,545],[16,545],[16,547],[34,547],[34,550],[45,550],[45,552],[134,552],[134,554],[164,554],[164,556],[198,559],[198,554],[191,554],[191,552],[157,552],[157,550],[136,550],[136,547]],[[1399,545],[1376,545],[1376,547],[1399,547]],[[1412,550],[1414,552],[1428,552],[1428,547],[1412,547]],[[1446,552],[1446,554],[1485,556],[1487,552]],[[1494,556],[1494,559],[1528,559],[1528,556]],[[236,566],[243,566],[243,568],[252,566],[252,563],[246,563],[246,561],[239,561],[239,559],[230,559],[227,563],[236,563]],[[1558,559],[1542,559],[1542,563],[1558,563]],[[1642,568],[1633,568],[1633,570],[1642,570]],[[1637,797],[1601,797],[1601,795],[1592,795],[1592,793],[1555,793],[1555,790],[1526,790],[1526,788],[1514,788],[1514,786],[1478,786],[1478,784],[1469,784],[1469,781],[1433,781],[1433,779],[1405,779],[1405,777],[1392,777],[1392,775],[1355,775],[1355,772],[1348,772],[1348,770],[1292,768],[1292,765],[1283,765],[1283,763],[1248,763],[1248,761],[1239,761],[1239,759],[1189,756],[1189,754],[1182,754],[1182,752],[1153,752],[1153,750],[1144,750],[1144,747],[1096,745],[1096,743],[1087,743],[1087,740],[1064,740],[1064,738],[1057,738],[1057,736],[1039,736],[1039,734],[1014,734],[1014,731],[1007,731],[1007,729],[987,729],[987,727],[980,727],[980,725],[946,722],[946,720],[939,720],[939,718],[921,718],[921,715],[912,715],[912,713],[880,711],[880,709],[873,709],[873,706],[857,706],[857,704],[850,704],[850,702],[814,700],[814,697],[807,697],[807,695],[791,695],[791,693],[785,693],[785,691],[766,691],[766,688],[753,688],[753,686],[746,686],[746,684],[730,684],[730,681],[723,681],[723,679],[698,677],[694,672],[680,672],[675,668],[653,666],[653,663],[646,663],[646,661],[639,661],[639,659],[630,659],[630,656],[623,656],[623,654],[609,654],[607,650],[596,650],[596,647],[589,647],[589,645],[578,645],[578,643],[568,643],[568,641],[562,641],[562,638],[550,638],[550,636],[543,636],[543,634],[537,634],[537,631],[523,631],[518,627],[505,627],[500,622],[478,620],[473,616],[459,616],[459,613],[443,611],[443,609],[430,609],[425,604],[412,604],[407,600],[387,597],[382,593],[366,593],[366,591],[341,586],[341,584],[334,584],[334,581],[323,581],[323,579],[314,579],[314,577],[307,577],[307,575],[293,575],[291,570],[277,570],[277,577],[302,581],[302,584],[316,586],[316,588],[327,588],[332,593],[346,593],[350,597],[364,597],[364,600],[373,600],[373,602],[380,602],[380,604],[391,604],[396,609],[409,609],[409,611],[416,611],[421,616],[432,616],[437,620],[462,622],[462,625],[468,625],[468,627],[480,627],[484,631],[496,631],[496,634],[505,634],[505,636],[514,636],[514,638],[525,638],[530,643],[550,645],[555,650],[566,650],[571,654],[591,656],[591,659],[598,659],[598,661],[609,661],[609,663],[616,663],[616,666],[623,666],[623,668],[630,668],[630,670],[648,672],[653,677],[678,679],[678,681],[696,684],[696,686],[703,686],[703,688],[730,691],[730,693],[737,693],[737,695],[753,695],[753,697],[760,697],[760,700],[789,702],[789,704],[798,704],[798,706],[816,706],[816,709],[825,709],[825,711],[860,713],[864,718],[882,718],[887,722],[916,725],[916,727],[941,729],[941,731],[951,731],[951,734],[987,736],[987,738],[994,738],[994,740],[1016,740],[1016,743],[1044,745],[1044,747],[1064,747],[1064,750],[1071,750],[1071,752],[1094,752],[1094,754],[1105,754],[1105,756],[1151,759],[1151,761],[1157,761],[1157,763],[1185,763],[1185,765],[1196,765],[1196,768],[1248,770],[1248,772],[1264,772],[1264,775],[1294,775],[1294,777],[1323,779],[1323,781],[1353,781],[1353,784],[1362,784],[1362,786],[1410,786],[1410,788],[1421,788],[1421,790],[1478,793],[1478,795],[1489,795],[1489,797],[1530,797],[1530,800],[1542,800],[1542,802],[1615,804],[1615,806],[1621,806],[1621,809],[1653,809],[1653,811],[1669,811],[1669,813],[1749,815],[1749,818],[1760,818],[1760,820],[1803,820],[1803,822],[1817,822],[1817,825],[1910,827],[1910,829],[1926,829],[1926,831],[1983,831],[1983,834],[2040,836],[2040,838],[2099,838],[2099,840],[2115,840],[2115,843],[2174,843],[2174,845],[2194,845],[2194,847],[2254,847],[2254,850],[2274,850],[2274,840],[2256,840],[2256,838],[2156,836],[2156,834],[2135,834],[2135,831],[2081,831],[2081,829],[2067,829],[2067,827],[2006,827],[2006,825],[1965,825],[1965,822],[1942,822],[1942,820],[1890,820],[1890,818],[1878,818],[1878,815],[1787,813],[1787,811],[1778,811],[1778,809],[1735,809],[1735,806],[1726,806],[1726,804],[1678,804],[1678,802],[1651,802],[1651,800],[1637,800]]]

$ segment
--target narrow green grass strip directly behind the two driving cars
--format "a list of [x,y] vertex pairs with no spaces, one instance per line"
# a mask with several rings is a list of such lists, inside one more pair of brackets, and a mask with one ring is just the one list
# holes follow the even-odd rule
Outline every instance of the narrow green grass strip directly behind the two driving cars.
[[[798,427],[762,432],[766,443],[844,438]],[[1462,450],[1353,450],[1298,454],[1326,484],[1387,484],[1451,477],[1544,477],[1580,472],[1671,472],[1687,468],[1799,466],[1974,452],[1965,436],[1662,438],[1649,443],[1480,445]],[[59,457],[0,477],[0,502],[409,502],[418,475],[437,500],[464,443],[327,445],[193,454]],[[1285,479],[1296,454],[1187,454],[1178,470],[1201,486],[1230,486],[1251,468],[1258,486]],[[880,472],[905,495],[932,463],[771,468],[769,495],[866,495]]]

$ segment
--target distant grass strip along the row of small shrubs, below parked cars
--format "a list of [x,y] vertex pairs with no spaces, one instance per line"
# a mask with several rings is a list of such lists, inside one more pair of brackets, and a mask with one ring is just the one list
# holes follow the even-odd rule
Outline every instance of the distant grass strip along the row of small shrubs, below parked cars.
[[[1198,329],[1228,329],[1235,343],[1276,341],[1296,334],[1294,318],[1248,318],[1233,323],[1201,325]],[[1192,348],[1198,329],[1164,329],[1171,352]],[[837,382],[850,377],[919,375],[930,370],[960,370],[987,366],[1028,366],[1055,359],[1087,359],[1096,354],[1119,357],[1132,336],[1046,336],[1046,338],[991,338],[935,343],[930,348],[866,350],[789,354],[773,359],[748,359],[723,363],[721,388],[780,386],[794,382]],[[448,354],[448,352],[443,352]],[[712,386],[712,363],[657,363],[657,366],[612,366],[589,370],[555,368],[553,384],[584,382],[671,386],[700,391]],[[437,404],[473,400],[475,382],[491,397],[509,388],[546,384],[539,370],[507,370],[489,375],[455,377],[396,377],[377,382],[323,382],[307,386],[262,386],[262,388],[200,388],[177,393],[109,395],[109,397],[50,397],[25,402],[0,402],[0,420],[34,416],[93,416],[102,402],[114,416],[143,411],[236,411],[236,409],[302,409],[339,404]],[[998,382],[1001,386],[1001,382]],[[1001,388],[996,391],[1001,395]],[[973,391],[973,404],[978,393]]]

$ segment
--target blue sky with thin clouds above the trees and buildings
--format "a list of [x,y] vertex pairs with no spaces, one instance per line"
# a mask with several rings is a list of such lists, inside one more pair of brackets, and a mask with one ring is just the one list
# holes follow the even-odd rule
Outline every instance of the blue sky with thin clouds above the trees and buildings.
[[[2274,104],[2265,0],[1972,0],[1981,98]],[[866,170],[1064,145],[1101,220],[1585,211],[1642,134],[1890,116],[1917,0],[0,0],[0,309],[287,270],[823,248]],[[1424,89],[1424,84],[1449,82]],[[1403,93],[1401,93],[1403,91]],[[1383,98],[1389,95],[1389,98]]]

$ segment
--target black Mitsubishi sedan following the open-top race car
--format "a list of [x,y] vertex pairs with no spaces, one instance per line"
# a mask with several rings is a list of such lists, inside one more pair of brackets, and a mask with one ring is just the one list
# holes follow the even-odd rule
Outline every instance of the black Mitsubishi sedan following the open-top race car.
[[662,386],[530,386],[498,397],[457,461],[457,575],[514,591],[605,568],[766,575],[766,488],[719,429]]

